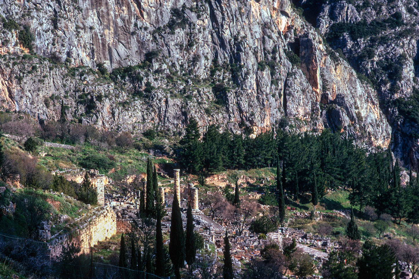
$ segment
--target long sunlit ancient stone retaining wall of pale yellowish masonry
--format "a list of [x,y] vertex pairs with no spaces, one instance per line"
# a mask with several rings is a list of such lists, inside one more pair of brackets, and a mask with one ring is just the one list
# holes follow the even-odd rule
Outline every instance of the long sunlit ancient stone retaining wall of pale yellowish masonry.
[[[82,222],[78,223],[79,221]],[[98,207],[86,217],[81,217],[75,221],[78,225],[72,232],[65,235],[52,236],[48,244],[49,255],[51,258],[57,258],[63,247],[75,245],[83,248],[90,248],[96,245],[98,241],[110,238],[116,233],[116,214],[112,207]],[[80,253],[87,252],[82,249]]]

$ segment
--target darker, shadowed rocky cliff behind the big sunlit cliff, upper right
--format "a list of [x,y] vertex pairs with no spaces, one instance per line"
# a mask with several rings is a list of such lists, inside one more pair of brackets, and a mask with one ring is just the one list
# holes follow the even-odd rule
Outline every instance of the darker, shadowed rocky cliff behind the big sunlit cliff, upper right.
[[413,89],[419,88],[418,3],[410,0],[349,2],[323,3],[316,18],[317,27],[324,36],[329,36],[328,32],[337,24],[349,27],[339,39],[328,41],[372,81],[382,111],[393,128],[392,150],[406,165],[416,169],[419,124],[417,120],[412,121],[412,115],[401,114],[396,100],[411,96]]

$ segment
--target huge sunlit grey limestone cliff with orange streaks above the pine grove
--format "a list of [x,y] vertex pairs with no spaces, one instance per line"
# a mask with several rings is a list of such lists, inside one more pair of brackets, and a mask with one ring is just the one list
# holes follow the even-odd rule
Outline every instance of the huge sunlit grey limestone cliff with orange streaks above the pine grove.
[[[288,0],[3,0],[0,15],[3,109],[57,119],[63,99],[70,118],[133,132],[182,131],[194,117],[257,134],[286,117],[300,132],[390,142],[377,92]],[[30,27],[35,58],[10,19]],[[112,79],[90,69],[99,63]],[[128,65],[139,66],[118,69]]]

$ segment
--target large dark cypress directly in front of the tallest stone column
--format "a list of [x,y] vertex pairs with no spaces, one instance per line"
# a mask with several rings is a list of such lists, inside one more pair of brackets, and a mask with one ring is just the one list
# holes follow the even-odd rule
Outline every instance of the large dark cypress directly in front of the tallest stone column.
[[173,264],[176,279],[181,278],[179,269],[184,267],[185,262],[185,235],[182,225],[181,209],[178,199],[173,199],[172,216],[170,226],[169,255]]

